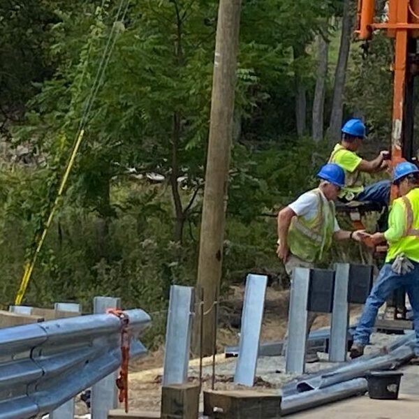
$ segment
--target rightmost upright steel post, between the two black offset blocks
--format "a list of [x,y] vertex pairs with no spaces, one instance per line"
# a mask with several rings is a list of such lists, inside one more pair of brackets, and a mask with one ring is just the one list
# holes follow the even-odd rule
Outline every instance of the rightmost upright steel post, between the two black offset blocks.
[[329,360],[330,362],[346,361],[349,324],[349,263],[335,265],[336,281],[333,298],[332,323],[330,325]]

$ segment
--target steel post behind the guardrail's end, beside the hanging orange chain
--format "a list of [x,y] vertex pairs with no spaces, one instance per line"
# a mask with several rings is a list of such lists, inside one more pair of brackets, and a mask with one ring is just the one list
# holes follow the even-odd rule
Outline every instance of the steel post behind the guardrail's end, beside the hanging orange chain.
[[[107,309],[120,309],[121,299],[115,297],[94,297],[94,314],[103,314]],[[91,419],[107,419],[108,411],[118,406],[115,371],[103,378],[91,388]]]

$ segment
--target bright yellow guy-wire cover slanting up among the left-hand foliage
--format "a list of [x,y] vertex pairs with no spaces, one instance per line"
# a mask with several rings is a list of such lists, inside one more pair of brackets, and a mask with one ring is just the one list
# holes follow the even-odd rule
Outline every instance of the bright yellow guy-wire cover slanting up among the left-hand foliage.
[[54,200],[54,205],[52,205],[50,215],[48,216],[47,223],[45,224],[45,228],[43,229],[41,238],[39,239],[38,246],[36,247],[34,256],[32,256],[32,260],[30,263],[28,262],[26,263],[26,265],[24,265],[24,273],[23,273],[22,281],[20,281],[19,290],[17,291],[16,296],[15,296],[15,305],[20,305],[22,303],[24,293],[27,291],[27,287],[29,284],[29,280],[31,279],[32,271],[34,270],[36,259],[38,258],[38,254],[40,253],[43,247],[43,243],[45,242],[45,237],[47,237],[48,229],[51,226],[52,219],[54,219],[54,214],[57,211],[59,198],[61,197],[64,191],[64,188],[66,187],[68,175],[70,175],[71,169],[73,168],[75,156],[80,147],[80,143],[82,142],[83,135],[84,135],[84,130],[82,129],[73,147],[73,152],[71,153],[71,157],[70,157],[70,160],[68,161],[66,171],[64,172],[64,176],[61,179],[61,184],[59,185],[57,197]]

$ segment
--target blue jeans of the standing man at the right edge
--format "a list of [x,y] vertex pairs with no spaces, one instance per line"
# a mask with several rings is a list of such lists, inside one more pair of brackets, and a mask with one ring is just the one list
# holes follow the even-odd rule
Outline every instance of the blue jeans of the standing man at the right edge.
[[358,323],[358,327],[355,330],[353,337],[355,344],[362,346],[369,344],[369,335],[371,335],[374,327],[378,309],[384,304],[392,291],[404,286],[413,310],[413,326],[416,332],[415,353],[419,355],[419,263],[411,262],[414,265],[414,269],[405,275],[393,272],[391,263],[385,263],[381,268],[376,283],[367,298],[367,302],[365,302],[360,323]]

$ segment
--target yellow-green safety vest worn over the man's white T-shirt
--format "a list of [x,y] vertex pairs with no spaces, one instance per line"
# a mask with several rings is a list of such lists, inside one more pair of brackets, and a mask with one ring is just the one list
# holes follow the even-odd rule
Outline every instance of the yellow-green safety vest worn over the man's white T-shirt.
[[330,249],[335,232],[335,203],[323,197],[319,189],[311,192],[318,197],[316,215],[312,219],[294,216],[288,230],[291,253],[307,262],[321,260]]

